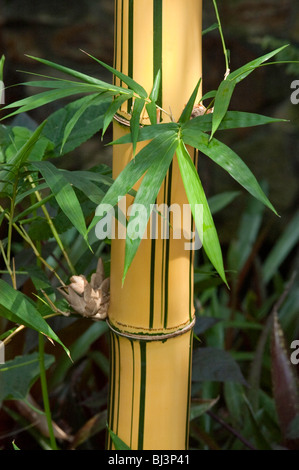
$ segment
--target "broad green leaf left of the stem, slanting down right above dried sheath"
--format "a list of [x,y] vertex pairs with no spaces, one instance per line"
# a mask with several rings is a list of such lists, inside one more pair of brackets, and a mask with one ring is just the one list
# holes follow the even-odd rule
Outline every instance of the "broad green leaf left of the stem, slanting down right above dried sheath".
[[74,227],[83,236],[86,233],[84,215],[71,184],[65,178],[63,171],[57,169],[50,162],[32,162],[32,165],[41,172],[61,210],[72,222]]

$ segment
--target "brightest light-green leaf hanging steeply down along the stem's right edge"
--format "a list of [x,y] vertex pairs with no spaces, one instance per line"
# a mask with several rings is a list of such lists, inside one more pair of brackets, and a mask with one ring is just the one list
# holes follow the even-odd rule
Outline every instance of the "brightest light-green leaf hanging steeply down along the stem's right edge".
[[[198,173],[183,141],[180,141],[177,148],[177,159],[195,225],[197,227],[198,233],[202,234],[201,241],[204,250],[211,263],[219,273],[221,279],[227,284],[221,247],[211,211]],[[196,210],[196,205],[198,204],[202,204],[203,207],[203,220],[200,220],[200,216]]]

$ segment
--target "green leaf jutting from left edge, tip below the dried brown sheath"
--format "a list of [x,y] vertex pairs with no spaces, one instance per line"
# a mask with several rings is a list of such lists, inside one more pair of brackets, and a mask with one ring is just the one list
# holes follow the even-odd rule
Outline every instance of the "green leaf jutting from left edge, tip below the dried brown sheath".
[[40,315],[34,303],[22,292],[13,289],[2,279],[0,279],[0,305],[1,316],[48,336],[53,341],[59,343],[69,355],[68,349]]

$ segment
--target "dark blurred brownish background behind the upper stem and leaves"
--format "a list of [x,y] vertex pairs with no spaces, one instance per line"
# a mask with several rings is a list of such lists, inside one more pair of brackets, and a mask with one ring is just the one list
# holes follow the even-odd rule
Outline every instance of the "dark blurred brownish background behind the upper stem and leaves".
[[[203,3],[205,29],[215,23],[216,18],[212,0]],[[232,70],[286,43],[290,47],[279,59],[299,59],[298,1],[219,0],[218,3]],[[0,8],[0,55],[6,56],[6,85],[28,79],[19,70],[49,74],[49,69],[37,65],[25,54],[110,80],[110,76],[79,49],[112,64],[113,0],[0,0]],[[220,37],[214,30],[203,37],[204,92],[215,89],[224,72]],[[270,199],[281,215],[280,219],[269,211],[266,215],[271,219],[268,236],[273,240],[298,208],[299,105],[290,101],[291,83],[296,79],[299,79],[298,66],[261,67],[237,86],[231,102],[231,109],[290,119],[290,123],[229,131],[225,135],[219,133],[219,138],[232,146],[258,180],[268,184]],[[32,89],[12,87],[7,90],[6,102],[29,92]],[[61,105],[59,102],[41,108],[30,117],[41,122]],[[99,136],[95,136],[72,158],[64,159],[63,165],[72,167],[75,162],[76,167],[91,167],[99,161],[111,164],[111,148],[107,149]],[[239,189],[231,178],[206,159],[200,161],[199,171],[208,195]],[[236,228],[239,211],[246,200],[246,196],[238,198],[217,215],[217,224],[222,225],[222,242],[228,241]]]

